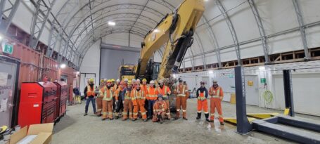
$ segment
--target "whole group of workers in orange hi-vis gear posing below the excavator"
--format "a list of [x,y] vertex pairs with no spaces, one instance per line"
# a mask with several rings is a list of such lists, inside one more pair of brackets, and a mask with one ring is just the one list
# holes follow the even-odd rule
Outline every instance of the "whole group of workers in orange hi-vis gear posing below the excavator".
[[[205,113],[207,122],[213,122],[215,119],[215,108],[219,113],[219,122],[223,123],[221,100],[223,98],[222,88],[214,81],[209,92],[205,88],[205,83],[201,82],[201,87],[197,90],[198,98],[198,117],[200,119],[201,112]],[[179,79],[179,84],[172,88],[174,96],[176,96],[177,112],[174,119],[180,118],[182,111],[182,119],[186,118],[186,100],[189,92],[188,86]],[[102,120],[119,119],[122,120],[141,118],[144,122],[152,119],[153,122],[162,123],[165,119],[171,119],[169,110],[169,96],[172,94],[169,86],[165,85],[165,81],[160,79],[158,86],[155,86],[155,81],[143,79],[101,79],[100,86],[94,85],[94,79],[89,79],[88,85],[84,89],[87,103],[84,116],[87,116],[89,103],[92,103],[94,114],[101,117]],[[210,119],[207,107],[207,97],[210,96]],[[97,103],[97,110],[96,110]],[[114,117],[115,116],[115,117]]]

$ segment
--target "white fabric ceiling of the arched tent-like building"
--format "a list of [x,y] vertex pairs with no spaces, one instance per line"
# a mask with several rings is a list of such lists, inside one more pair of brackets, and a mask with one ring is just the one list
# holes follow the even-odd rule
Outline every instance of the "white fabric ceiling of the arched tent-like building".
[[[51,12],[62,27],[49,32],[48,45],[79,66],[94,41],[118,33],[144,37],[181,1],[58,0]],[[184,58],[184,67],[237,60],[237,48],[240,49],[240,58],[265,55],[265,48],[267,54],[303,49],[293,1],[297,1],[301,11],[308,48],[320,46],[319,0],[252,0],[264,27],[266,46],[262,44],[263,34],[250,1],[205,1],[205,13],[194,35],[195,42]],[[53,17],[49,16],[49,20]],[[110,20],[117,25],[108,26]],[[231,22],[234,31],[228,22]],[[162,52],[155,53],[155,59],[159,60]]]

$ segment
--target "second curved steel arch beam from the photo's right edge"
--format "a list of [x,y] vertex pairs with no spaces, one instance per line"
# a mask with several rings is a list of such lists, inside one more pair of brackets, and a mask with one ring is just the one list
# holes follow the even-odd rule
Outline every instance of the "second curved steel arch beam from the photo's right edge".
[[266,32],[264,31],[263,23],[262,23],[259,11],[257,10],[257,6],[255,5],[255,1],[248,0],[248,3],[250,5],[253,15],[255,16],[255,22],[257,22],[257,27],[259,29],[261,42],[262,42],[264,60],[265,60],[265,63],[268,64],[270,63],[270,60],[269,60],[269,46],[267,43],[267,35],[266,35]]

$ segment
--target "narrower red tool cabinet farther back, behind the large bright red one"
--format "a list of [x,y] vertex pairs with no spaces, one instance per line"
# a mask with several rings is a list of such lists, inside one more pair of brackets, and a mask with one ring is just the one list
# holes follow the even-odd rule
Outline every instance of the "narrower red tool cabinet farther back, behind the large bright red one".
[[56,100],[56,119],[63,116],[67,110],[68,100],[68,84],[64,81],[54,82],[57,86],[57,100]]

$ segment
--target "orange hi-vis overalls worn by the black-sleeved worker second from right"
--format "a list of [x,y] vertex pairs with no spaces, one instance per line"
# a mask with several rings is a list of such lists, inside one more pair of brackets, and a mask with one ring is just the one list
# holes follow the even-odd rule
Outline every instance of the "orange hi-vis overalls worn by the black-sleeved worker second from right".
[[198,99],[198,113],[205,112],[205,114],[209,114],[207,110],[207,89],[199,88],[197,90],[197,99]]

